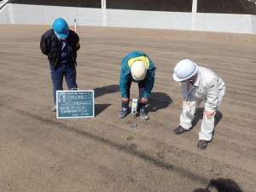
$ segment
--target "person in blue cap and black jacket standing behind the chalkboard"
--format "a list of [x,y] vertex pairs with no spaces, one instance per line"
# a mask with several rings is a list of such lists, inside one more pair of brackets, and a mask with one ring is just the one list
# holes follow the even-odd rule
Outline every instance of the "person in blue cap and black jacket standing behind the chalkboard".
[[78,88],[76,83],[77,50],[80,49],[79,36],[69,30],[67,21],[62,18],[55,19],[53,28],[44,32],[40,48],[44,55],[48,55],[50,74],[53,83],[53,96],[56,111],[56,90],[63,90],[63,77],[65,76],[68,90]]

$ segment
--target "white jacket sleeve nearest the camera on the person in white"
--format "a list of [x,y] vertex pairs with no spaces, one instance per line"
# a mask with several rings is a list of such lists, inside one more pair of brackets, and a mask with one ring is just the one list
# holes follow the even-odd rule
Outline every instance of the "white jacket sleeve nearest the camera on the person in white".
[[213,79],[211,82],[207,83],[207,101],[205,104],[205,110],[207,111],[216,111],[218,107],[218,81]]

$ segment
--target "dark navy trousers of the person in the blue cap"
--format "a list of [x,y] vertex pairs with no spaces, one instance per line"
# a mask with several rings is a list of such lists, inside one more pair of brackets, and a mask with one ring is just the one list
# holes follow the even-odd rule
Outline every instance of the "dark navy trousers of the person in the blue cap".
[[65,77],[67,82],[68,90],[72,90],[73,88],[78,88],[76,83],[77,72],[76,67],[73,64],[62,64],[55,69],[50,68],[51,79],[53,83],[53,96],[54,102],[56,105],[56,91],[63,90],[63,78]]

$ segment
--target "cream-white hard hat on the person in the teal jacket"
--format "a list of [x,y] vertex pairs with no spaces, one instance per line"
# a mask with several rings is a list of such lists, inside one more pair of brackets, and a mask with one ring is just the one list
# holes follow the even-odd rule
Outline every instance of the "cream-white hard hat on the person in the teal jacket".
[[131,65],[131,76],[135,80],[143,80],[147,74],[146,63],[143,61],[135,61]]

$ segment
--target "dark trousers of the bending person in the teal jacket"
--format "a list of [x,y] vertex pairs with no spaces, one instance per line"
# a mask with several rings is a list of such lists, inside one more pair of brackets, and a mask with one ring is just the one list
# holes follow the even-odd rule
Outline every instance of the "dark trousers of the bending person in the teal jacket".
[[[146,103],[142,103],[142,98],[143,98],[143,92],[145,90],[145,80],[140,81],[137,83],[138,89],[139,89],[139,96],[138,96],[138,110],[141,110],[145,108]],[[128,101],[130,101],[130,89],[131,89],[131,80],[129,79],[128,84],[127,84],[127,96],[128,96]],[[129,108],[129,102],[122,102],[122,108]]]

